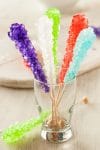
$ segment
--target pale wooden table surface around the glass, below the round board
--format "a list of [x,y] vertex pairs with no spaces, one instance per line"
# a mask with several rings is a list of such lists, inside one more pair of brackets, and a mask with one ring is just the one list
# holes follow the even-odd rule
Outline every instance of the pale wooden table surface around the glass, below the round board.
[[[77,99],[72,117],[74,137],[63,144],[51,144],[40,136],[16,147],[8,147],[0,140],[0,150],[100,150],[100,68],[80,76],[77,80]],[[87,96],[87,105],[80,103]],[[32,89],[0,87],[0,129],[38,115]]]

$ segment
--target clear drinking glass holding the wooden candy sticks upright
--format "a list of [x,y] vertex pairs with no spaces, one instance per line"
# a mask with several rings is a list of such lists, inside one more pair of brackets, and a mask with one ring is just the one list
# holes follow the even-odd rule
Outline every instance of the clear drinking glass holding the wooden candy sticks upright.
[[69,83],[49,84],[50,91],[45,93],[38,80],[34,80],[35,100],[39,111],[50,110],[44,121],[41,137],[47,141],[61,143],[72,136],[71,117],[76,99],[76,78]]

